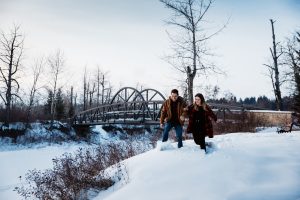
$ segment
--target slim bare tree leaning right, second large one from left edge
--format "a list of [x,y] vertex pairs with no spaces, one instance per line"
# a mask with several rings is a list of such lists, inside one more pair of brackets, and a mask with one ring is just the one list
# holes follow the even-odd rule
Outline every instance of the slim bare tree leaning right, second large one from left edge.
[[36,93],[41,88],[38,86],[38,82],[39,82],[40,76],[43,72],[44,66],[45,66],[45,60],[43,58],[41,58],[41,59],[36,60],[34,66],[32,67],[33,83],[32,83],[31,89],[30,89],[29,103],[28,103],[28,108],[27,108],[27,120],[26,120],[27,126],[29,125],[28,123],[30,120],[32,107],[34,105]]

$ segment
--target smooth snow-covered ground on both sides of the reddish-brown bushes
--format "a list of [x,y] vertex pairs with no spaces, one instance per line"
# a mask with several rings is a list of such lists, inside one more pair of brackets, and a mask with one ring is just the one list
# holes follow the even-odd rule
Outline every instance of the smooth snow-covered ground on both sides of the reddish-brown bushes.
[[[232,133],[207,139],[205,154],[191,140],[158,143],[124,161],[129,179],[94,199],[300,200],[300,131]],[[0,152],[0,199],[22,199],[13,190],[29,169],[52,166],[52,158],[80,145]]]

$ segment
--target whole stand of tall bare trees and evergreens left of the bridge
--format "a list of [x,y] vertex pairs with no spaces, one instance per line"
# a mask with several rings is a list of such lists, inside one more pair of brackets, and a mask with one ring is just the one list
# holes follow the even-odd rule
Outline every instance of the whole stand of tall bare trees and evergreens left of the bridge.
[[0,126],[36,120],[53,123],[111,98],[108,72],[99,66],[90,71],[85,67],[82,79],[70,83],[70,66],[61,50],[27,58],[32,63],[25,66],[24,43],[20,26],[0,32]]

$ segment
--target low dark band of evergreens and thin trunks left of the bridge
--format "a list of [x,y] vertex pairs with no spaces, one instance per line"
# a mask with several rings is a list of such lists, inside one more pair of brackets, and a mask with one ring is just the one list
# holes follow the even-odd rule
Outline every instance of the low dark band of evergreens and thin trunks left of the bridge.
[[[68,120],[71,119],[77,112],[93,108],[102,104],[97,103],[99,100],[97,97],[91,95],[91,91],[87,90],[86,97],[77,101],[77,96],[72,95],[73,89],[70,91],[64,91],[62,88],[59,88],[55,96],[53,91],[46,90],[45,96],[40,96],[39,98],[46,98],[45,101],[41,99],[36,99],[34,105],[30,106],[31,112],[28,113],[29,106],[25,101],[19,99],[14,99],[10,108],[10,122],[34,122],[36,120]],[[76,94],[77,95],[77,94]],[[83,94],[82,94],[83,96]],[[106,96],[106,100],[103,103],[106,103],[111,98],[111,95]],[[84,101],[84,102],[82,102]],[[55,105],[52,110],[53,104]],[[0,103],[0,122],[6,120],[6,109],[3,104]]]

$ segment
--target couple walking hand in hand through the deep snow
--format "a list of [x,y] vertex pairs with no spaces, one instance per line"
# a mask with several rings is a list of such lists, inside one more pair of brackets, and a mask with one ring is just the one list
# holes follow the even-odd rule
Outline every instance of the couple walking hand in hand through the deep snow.
[[161,110],[160,127],[164,128],[162,141],[168,140],[169,131],[174,127],[178,148],[182,147],[182,126],[186,116],[189,117],[187,132],[193,134],[195,143],[206,152],[205,136],[213,137],[211,119],[217,121],[217,116],[200,93],[195,95],[195,102],[187,106],[184,99],[178,95],[177,89],[171,91],[171,96],[164,102]]

